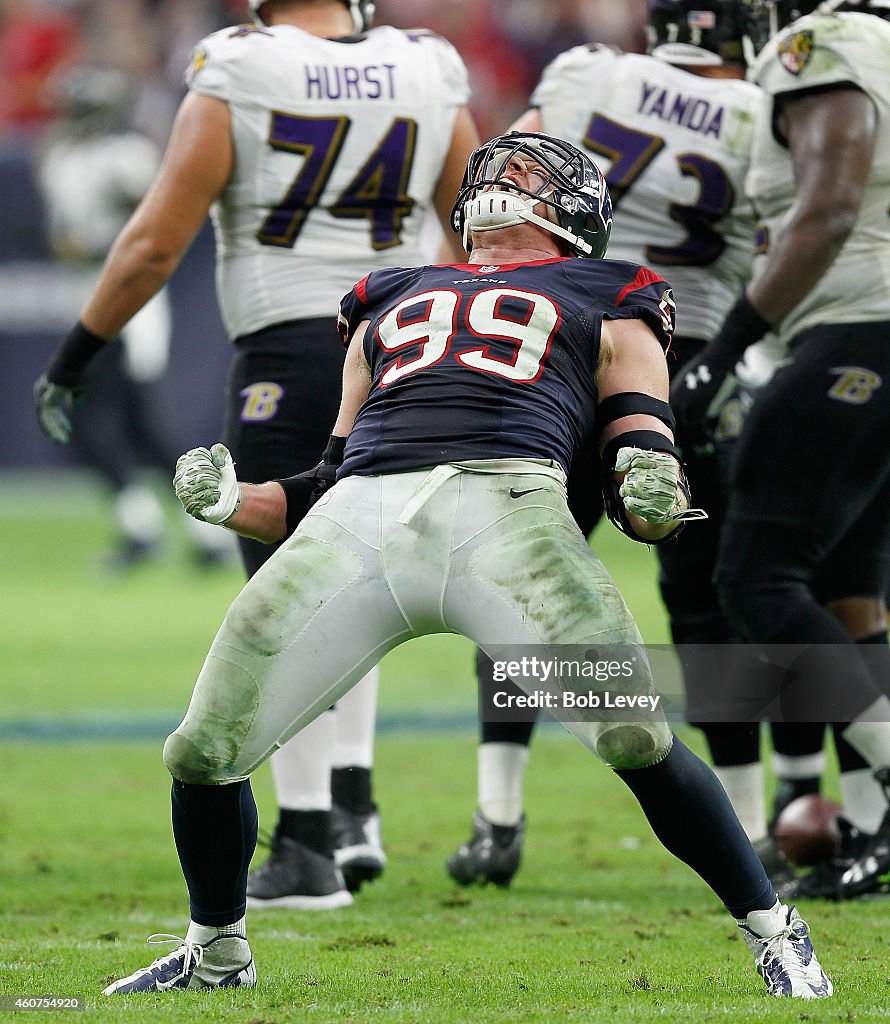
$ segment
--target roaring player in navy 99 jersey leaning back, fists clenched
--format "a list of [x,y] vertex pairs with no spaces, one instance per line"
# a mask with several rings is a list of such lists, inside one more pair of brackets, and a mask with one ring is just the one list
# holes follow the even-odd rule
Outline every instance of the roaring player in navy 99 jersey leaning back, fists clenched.
[[623,650],[639,713],[566,712],[566,728],[724,902],[769,991],[828,996],[807,926],[713,772],[672,735],[633,618],[566,505],[566,468],[593,432],[620,528],[652,543],[694,514],[666,402],[670,288],[599,259],[608,193],[573,146],[501,136],[464,182],[454,221],[468,264],[375,271],[344,299],[340,411],[314,470],[241,484],[221,444],[177,463],[187,512],[284,543],[229,608],[165,746],[193,923],[107,991],[253,983],[246,940],[230,939],[245,934],[251,772],[386,651],[456,632],[496,657]]

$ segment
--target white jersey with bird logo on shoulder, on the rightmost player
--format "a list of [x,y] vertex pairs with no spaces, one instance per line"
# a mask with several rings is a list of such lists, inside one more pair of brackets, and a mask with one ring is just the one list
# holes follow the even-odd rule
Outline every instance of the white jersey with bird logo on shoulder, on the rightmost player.
[[[811,14],[773,37],[751,74],[768,97],[849,82],[871,96],[878,119],[853,230],[824,276],[779,325],[782,339],[816,324],[890,319],[890,23],[874,14]],[[757,132],[748,189],[768,252],[795,201],[791,158],[771,117]]]

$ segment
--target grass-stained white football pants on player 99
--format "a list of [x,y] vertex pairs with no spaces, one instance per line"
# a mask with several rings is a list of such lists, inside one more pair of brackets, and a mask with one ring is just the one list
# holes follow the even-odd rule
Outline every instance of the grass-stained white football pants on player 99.
[[[442,632],[496,658],[505,648],[641,644],[568,512],[561,469],[474,461],[337,483],[232,602],[168,737],[167,766],[197,784],[244,779],[387,651]],[[642,674],[608,688],[651,692],[640,654]],[[614,767],[645,767],[670,750],[660,712],[642,732],[639,721],[557,717]],[[597,750],[608,730],[618,731]]]

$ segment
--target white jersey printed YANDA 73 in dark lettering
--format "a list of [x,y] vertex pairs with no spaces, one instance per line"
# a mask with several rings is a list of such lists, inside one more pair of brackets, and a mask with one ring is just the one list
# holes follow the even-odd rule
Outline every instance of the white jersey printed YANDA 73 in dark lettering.
[[544,131],[587,150],[605,174],[607,255],[670,282],[679,336],[712,338],[748,281],[744,183],[762,101],[749,82],[595,44],[560,54],[532,97]]

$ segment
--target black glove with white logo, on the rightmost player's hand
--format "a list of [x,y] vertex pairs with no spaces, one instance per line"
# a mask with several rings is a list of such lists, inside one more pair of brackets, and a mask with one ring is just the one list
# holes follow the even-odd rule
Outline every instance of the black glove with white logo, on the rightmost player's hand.
[[770,330],[768,321],[754,308],[748,296],[739,296],[729,310],[717,337],[681,367],[671,384],[671,409],[677,419],[676,440],[681,447],[707,439],[709,410],[731,385],[735,364],[749,345]]

